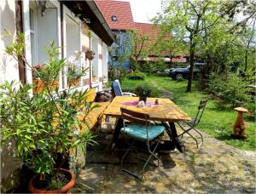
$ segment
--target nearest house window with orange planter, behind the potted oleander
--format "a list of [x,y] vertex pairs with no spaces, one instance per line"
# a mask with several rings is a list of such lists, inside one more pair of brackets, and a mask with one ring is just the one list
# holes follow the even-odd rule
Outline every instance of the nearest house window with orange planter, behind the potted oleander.
[[[45,52],[45,47],[49,48],[49,42],[54,41],[55,47],[60,46],[58,41],[58,8],[50,3],[50,8],[45,10],[42,17],[40,9],[32,1],[29,2],[29,33],[30,52],[32,66],[41,64],[38,68],[44,68],[44,64],[49,61],[49,56]],[[29,77],[29,76],[28,76]],[[44,83],[32,74],[32,83],[35,84],[33,93],[41,92]],[[55,80],[55,86],[59,86],[59,80]]]

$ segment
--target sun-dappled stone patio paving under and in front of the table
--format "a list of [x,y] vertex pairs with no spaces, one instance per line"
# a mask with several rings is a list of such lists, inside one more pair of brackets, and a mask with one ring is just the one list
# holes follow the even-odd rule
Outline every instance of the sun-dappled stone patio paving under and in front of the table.
[[[107,129],[108,128],[108,129]],[[97,145],[88,148],[86,167],[80,172],[73,193],[170,193],[213,192],[255,193],[256,152],[242,151],[204,134],[205,143],[184,136],[186,151],[160,154],[160,167],[146,168],[145,180],[137,180],[120,170],[124,150],[109,149],[113,128],[102,128]],[[126,167],[141,169],[142,161],[131,153]]]

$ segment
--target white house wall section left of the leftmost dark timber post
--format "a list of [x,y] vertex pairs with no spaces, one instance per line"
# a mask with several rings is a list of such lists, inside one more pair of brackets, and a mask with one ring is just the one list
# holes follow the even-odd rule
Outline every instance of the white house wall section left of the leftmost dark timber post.
[[[12,35],[16,33],[15,27],[15,1],[1,1],[0,3],[0,15],[1,15],[1,28],[0,28],[0,84],[5,81],[19,82],[19,67],[15,59],[5,54],[6,46],[12,42],[12,38],[3,37],[5,34],[4,29],[11,32]],[[9,157],[9,150],[14,149],[14,142],[9,141],[8,144],[2,147],[1,150],[1,191],[9,189],[9,186],[2,185],[3,180],[10,179],[10,185],[17,184],[15,180],[11,180],[11,174],[15,169],[20,168],[20,162],[15,160],[14,157]]]

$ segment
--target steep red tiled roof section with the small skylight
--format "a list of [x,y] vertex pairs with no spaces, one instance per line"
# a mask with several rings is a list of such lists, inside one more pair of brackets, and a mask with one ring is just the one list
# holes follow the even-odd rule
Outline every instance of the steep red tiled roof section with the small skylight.
[[[113,30],[131,30],[134,23],[132,19],[131,6],[129,2],[119,2],[113,0],[96,0],[96,4],[102,12],[105,20]],[[117,21],[112,20],[112,16],[117,17]]]

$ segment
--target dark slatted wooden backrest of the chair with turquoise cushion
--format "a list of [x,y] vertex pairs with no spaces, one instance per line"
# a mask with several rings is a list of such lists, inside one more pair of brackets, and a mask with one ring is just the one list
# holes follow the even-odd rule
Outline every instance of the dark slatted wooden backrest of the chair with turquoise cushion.
[[125,120],[130,121],[131,123],[143,124],[146,126],[150,125],[149,115],[143,112],[131,111],[121,107],[122,117]]

